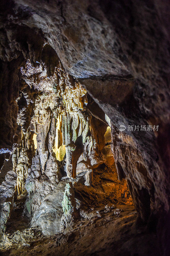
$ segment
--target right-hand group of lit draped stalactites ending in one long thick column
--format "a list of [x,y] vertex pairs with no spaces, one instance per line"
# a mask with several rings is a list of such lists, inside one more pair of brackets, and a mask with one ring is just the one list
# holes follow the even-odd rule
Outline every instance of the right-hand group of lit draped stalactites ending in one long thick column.
[[69,178],[75,178],[77,161],[84,151],[85,143],[91,144],[90,153],[94,146],[90,132],[91,114],[86,109],[88,104],[86,91],[78,82],[67,84],[65,90],[61,82],[59,86],[60,89],[55,88],[55,90],[62,102],[58,111],[62,116],[60,123],[62,123],[62,142],[66,146],[66,171]]

